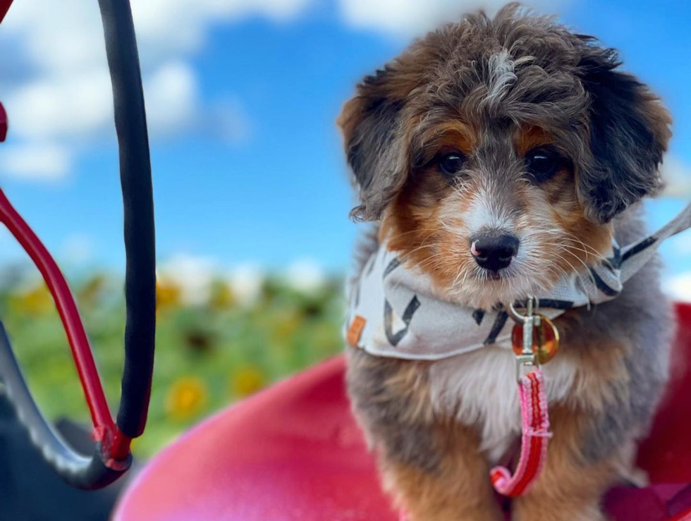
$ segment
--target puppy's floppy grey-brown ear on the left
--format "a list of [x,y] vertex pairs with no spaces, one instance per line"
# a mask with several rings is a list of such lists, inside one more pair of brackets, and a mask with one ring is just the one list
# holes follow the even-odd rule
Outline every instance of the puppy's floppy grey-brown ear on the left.
[[361,204],[350,212],[357,221],[379,219],[408,177],[401,117],[405,97],[400,87],[392,68],[377,71],[357,85],[357,94],[338,117],[348,164],[360,189]]

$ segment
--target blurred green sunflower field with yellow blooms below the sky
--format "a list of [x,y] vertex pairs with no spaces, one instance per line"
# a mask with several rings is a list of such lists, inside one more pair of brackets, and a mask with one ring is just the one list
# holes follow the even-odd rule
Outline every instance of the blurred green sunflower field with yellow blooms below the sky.
[[[216,281],[204,302],[189,304],[172,283],[159,283],[157,353],[147,431],[135,455],[147,457],[200,419],[341,350],[340,278],[301,292],[268,277],[241,302]],[[75,296],[115,408],[123,364],[122,283],[94,274]],[[0,316],[30,388],[49,418],[89,415],[59,317],[42,283],[0,286]]]

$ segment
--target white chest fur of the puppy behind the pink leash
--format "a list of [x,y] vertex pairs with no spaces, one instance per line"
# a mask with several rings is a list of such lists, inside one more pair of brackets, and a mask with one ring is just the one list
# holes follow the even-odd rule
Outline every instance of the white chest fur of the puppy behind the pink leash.
[[[577,399],[573,396],[578,372],[575,360],[557,356],[543,369],[550,403],[568,396]],[[481,450],[490,462],[497,462],[521,431],[513,352],[487,347],[434,362],[428,370],[434,411],[475,427]]]

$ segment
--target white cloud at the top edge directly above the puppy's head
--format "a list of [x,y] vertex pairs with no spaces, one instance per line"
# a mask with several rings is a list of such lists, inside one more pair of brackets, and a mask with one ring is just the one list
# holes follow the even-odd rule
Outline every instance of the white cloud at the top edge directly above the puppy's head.
[[[554,13],[568,1],[529,0],[523,4]],[[339,0],[339,4],[343,18],[354,27],[397,35],[420,35],[478,8],[494,13],[506,5],[506,0]]]

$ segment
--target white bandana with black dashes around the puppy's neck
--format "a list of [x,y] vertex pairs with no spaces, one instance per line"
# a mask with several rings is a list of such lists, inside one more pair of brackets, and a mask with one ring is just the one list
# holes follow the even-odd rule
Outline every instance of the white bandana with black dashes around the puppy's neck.
[[[537,295],[539,312],[554,319],[574,307],[616,298],[668,237],[691,227],[691,204],[655,233],[619,247],[589,266],[588,274],[561,278]],[[346,339],[350,345],[382,357],[440,360],[485,345],[510,346],[508,313],[473,309],[444,300],[432,279],[415,266],[404,266],[386,243],[369,258],[350,288]]]

